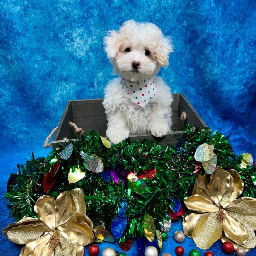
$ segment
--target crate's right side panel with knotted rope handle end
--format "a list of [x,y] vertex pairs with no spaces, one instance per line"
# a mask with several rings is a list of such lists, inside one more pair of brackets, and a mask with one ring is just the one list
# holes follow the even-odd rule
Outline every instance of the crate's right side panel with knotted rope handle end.
[[194,107],[188,102],[183,94],[180,95],[179,116],[181,116],[182,112],[187,114],[187,119],[185,121],[179,119],[179,130],[184,130],[188,123],[195,127],[207,127],[205,121],[199,116]]

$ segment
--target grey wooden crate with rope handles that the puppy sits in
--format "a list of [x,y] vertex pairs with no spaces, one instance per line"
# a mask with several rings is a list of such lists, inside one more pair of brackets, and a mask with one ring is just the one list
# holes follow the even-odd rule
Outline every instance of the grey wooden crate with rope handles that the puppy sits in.
[[[153,139],[162,145],[174,145],[177,142],[177,136],[179,137],[179,134],[186,132],[184,131],[184,127],[187,123],[195,127],[207,127],[204,120],[199,116],[183,94],[173,94],[173,96],[172,129],[174,131],[169,132],[162,138],[156,138],[151,134],[130,135],[132,140]],[[74,122],[79,128],[83,128],[85,131],[96,130],[97,132],[101,132],[102,136],[105,137],[107,120],[102,102],[103,99],[68,101],[52,141],[53,149],[57,148],[57,144],[62,144],[64,142],[63,138],[74,139],[75,133],[68,125],[68,122]],[[187,114],[187,119],[185,121],[180,119],[182,112],[186,112]]]

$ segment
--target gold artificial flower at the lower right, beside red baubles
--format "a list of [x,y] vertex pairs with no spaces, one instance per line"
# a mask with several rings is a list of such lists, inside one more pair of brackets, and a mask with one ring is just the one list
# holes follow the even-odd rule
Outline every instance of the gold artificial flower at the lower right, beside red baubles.
[[256,199],[241,197],[243,180],[235,170],[217,167],[209,176],[198,175],[185,205],[195,211],[184,217],[183,230],[196,246],[207,250],[214,242],[230,241],[246,251],[256,245]]

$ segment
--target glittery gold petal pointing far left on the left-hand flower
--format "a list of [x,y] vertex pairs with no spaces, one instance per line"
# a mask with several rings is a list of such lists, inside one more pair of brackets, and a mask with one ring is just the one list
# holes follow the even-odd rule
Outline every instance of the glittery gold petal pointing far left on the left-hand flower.
[[44,233],[51,231],[51,229],[48,226],[46,226],[43,222],[36,225],[19,224],[18,226],[14,226],[14,227],[11,227],[11,226],[13,226],[13,224],[3,229],[3,233],[10,241],[20,245],[24,245],[29,242],[32,242],[38,239]]

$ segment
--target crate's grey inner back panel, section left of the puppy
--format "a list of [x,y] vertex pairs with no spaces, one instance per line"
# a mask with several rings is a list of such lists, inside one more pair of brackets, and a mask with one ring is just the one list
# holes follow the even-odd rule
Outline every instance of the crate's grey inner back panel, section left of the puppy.
[[74,123],[86,131],[96,130],[106,136],[107,119],[103,99],[72,101]]

